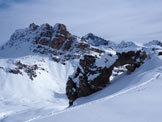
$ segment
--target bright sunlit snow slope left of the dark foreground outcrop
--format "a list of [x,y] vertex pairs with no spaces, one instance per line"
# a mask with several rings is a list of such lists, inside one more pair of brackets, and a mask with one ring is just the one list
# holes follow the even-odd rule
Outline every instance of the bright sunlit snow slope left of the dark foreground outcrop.
[[68,107],[65,87],[68,76],[74,71],[72,63],[63,65],[47,57],[28,55],[0,59],[0,67],[6,67],[7,70],[8,67],[15,67],[16,61],[28,65],[37,64],[45,70],[37,70],[39,75],[31,80],[25,71],[22,71],[22,75],[15,75],[0,69],[0,121],[25,121]]

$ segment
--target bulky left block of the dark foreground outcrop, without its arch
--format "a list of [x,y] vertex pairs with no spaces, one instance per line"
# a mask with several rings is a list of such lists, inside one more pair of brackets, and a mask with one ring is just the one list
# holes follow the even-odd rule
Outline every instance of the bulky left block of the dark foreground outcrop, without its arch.
[[[75,99],[101,90],[109,83],[109,75],[111,75],[109,72],[110,69],[97,67],[95,62],[96,57],[85,55],[84,58],[80,60],[80,67],[77,68],[75,74],[69,77],[66,93],[70,105],[72,105]],[[93,80],[89,79],[89,77],[95,77],[96,74],[99,74],[96,78]]]

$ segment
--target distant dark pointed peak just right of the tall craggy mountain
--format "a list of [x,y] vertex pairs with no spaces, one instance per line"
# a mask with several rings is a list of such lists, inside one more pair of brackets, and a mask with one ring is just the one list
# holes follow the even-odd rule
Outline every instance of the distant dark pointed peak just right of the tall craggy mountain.
[[100,46],[100,45],[107,45],[110,47],[115,46],[115,43],[105,40],[103,38],[100,38],[100,37],[94,35],[93,33],[88,33],[87,35],[83,36],[81,39],[93,46]]

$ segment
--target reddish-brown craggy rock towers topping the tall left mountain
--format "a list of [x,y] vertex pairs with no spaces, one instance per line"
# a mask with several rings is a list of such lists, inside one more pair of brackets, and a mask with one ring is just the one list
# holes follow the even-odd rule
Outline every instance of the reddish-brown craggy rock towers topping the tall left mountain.
[[[31,24],[30,28],[37,29],[38,26]],[[64,43],[70,45],[72,41],[72,35],[67,31],[66,26],[63,24],[56,24],[52,27],[49,24],[43,24],[39,27],[41,30],[39,36],[36,37],[36,44],[52,47],[59,50]],[[66,46],[67,47],[67,46]],[[65,47],[65,48],[66,48]],[[68,50],[68,48],[66,48]]]

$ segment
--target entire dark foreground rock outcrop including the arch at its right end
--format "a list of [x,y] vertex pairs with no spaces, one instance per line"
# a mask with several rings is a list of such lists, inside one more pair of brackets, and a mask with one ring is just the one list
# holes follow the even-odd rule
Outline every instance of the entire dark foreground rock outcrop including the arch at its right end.
[[[105,62],[102,67],[97,66],[98,58],[95,56],[85,55],[83,59],[80,59],[76,72],[67,81],[66,94],[70,105],[77,98],[88,96],[108,85],[114,67],[126,65],[127,70],[133,72],[144,63],[147,57],[146,52],[142,50],[117,55],[118,59],[112,65],[107,66],[107,62]],[[113,57],[109,56],[109,58]]]

